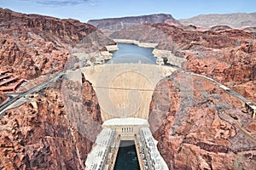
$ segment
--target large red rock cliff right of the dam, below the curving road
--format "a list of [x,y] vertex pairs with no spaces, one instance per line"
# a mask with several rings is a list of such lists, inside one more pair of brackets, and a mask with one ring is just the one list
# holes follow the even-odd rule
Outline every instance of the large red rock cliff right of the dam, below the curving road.
[[200,77],[177,72],[159,82],[148,121],[170,169],[256,165],[256,122],[240,100]]

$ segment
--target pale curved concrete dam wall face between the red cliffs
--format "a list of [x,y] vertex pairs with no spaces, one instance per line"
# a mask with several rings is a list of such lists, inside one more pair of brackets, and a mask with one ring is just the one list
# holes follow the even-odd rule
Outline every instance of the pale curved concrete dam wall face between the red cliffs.
[[102,120],[107,121],[124,117],[147,120],[155,85],[175,69],[163,65],[121,63],[92,65],[80,71],[92,83]]

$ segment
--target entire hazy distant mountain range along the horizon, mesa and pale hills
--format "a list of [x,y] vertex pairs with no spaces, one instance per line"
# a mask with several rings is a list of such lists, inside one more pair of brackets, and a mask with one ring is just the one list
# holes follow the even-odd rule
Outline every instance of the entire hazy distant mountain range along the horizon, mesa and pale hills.
[[148,14],[101,20],[89,20],[88,24],[101,30],[118,31],[139,24],[169,24],[172,26],[230,26],[231,28],[256,27],[255,13],[201,14],[189,19],[176,20],[172,14]]

